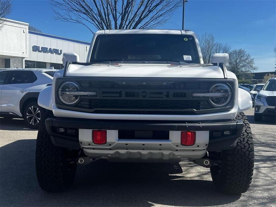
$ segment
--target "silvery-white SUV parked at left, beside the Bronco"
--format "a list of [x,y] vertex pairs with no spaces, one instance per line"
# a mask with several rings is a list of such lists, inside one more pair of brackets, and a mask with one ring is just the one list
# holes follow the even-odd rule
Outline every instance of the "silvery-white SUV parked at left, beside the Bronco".
[[39,92],[52,85],[55,69],[1,69],[0,116],[24,118],[28,127],[38,129],[41,110]]

